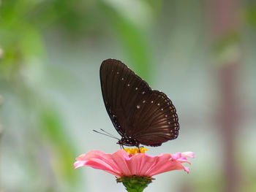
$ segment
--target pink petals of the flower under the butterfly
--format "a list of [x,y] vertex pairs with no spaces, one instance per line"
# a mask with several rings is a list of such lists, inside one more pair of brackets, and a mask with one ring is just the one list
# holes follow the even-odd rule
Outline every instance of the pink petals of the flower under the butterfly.
[[91,150],[76,158],[75,169],[80,166],[91,166],[94,169],[102,169],[105,172],[123,176],[146,176],[152,177],[163,172],[184,169],[189,173],[189,167],[183,163],[189,163],[187,158],[194,158],[194,153],[161,153],[157,156],[147,155],[146,153],[137,153],[129,155],[125,150],[118,150],[112,154],[106,154],[99,150]]

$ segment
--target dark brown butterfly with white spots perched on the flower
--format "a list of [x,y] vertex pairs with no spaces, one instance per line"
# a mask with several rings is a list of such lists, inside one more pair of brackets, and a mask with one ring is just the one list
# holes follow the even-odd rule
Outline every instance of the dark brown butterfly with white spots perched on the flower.
[[121,139],[117,144],[157,147],[178,137],[178,115],[172,101],[116,59],[99,70],[108,115]]

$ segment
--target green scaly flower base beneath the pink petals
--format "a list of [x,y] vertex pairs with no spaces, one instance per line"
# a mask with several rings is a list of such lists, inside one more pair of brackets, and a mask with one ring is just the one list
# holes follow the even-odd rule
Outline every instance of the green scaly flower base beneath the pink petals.
[[123,183],[128,192],[142,192],[152,180],[154,180],[152,177],[138,177],[133,175],[117,178],[116,182]]

